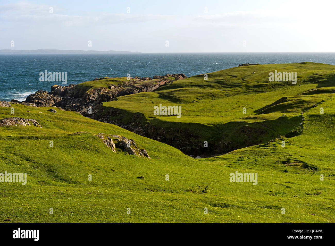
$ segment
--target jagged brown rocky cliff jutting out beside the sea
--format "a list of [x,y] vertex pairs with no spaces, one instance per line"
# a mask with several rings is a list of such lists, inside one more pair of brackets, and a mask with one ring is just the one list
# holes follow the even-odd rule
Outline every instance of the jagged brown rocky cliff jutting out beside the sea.
[[[173,79],[187,78],[184,74],[167,74],[154,76],[153,78],[131,78],[120,85],[111,84],[108,88],[85,89],[74,84],[68,86],[53,85],[51,91],[38,90],[29,95],[22,104],[34,104],[36,106],[57,106],[66,110],[79,111],[85,116],[89,107],[102,102],[112,101],[119,96],[135,94],[139,92],[151,92]],[[96,78],[94,80],[110,79],[109,77]],[[12,100],[14,103],[20,103]]]

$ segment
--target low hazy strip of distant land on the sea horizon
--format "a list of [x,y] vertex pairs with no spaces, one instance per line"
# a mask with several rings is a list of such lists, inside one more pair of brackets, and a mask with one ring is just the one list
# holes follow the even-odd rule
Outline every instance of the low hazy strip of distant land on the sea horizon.
[[125,54],[132,51],[82,51],[82,50],[0,50],[0,54]]

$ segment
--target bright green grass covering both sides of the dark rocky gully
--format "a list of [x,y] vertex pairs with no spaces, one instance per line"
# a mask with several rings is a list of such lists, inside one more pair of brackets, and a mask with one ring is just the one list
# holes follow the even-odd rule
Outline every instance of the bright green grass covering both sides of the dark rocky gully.
[[[297,72],[297,84],[269,82],[275,69]],[[335,222],[334,90],[333,65],[272,64],[226,69],[208,80],[197,75],[103,103],[106,112],[124,112],[125,123],[140,113],[139,125],[193,132],[198,137],[190,143],[199,149],[204,141],[235,149],[201,159],[75,112],[12,104],[11,114],[0,107],[0,119],[33,118],[43,127],[0,127],[0,172],[27,173],[26,185],[0,182],[0,221]],[[181,105],[182,117],[153,115],[159,103]],[[98,133],[133,139],[151,160],[112,152]],[[258,183],[230,182],[235,171],[257,173]]]

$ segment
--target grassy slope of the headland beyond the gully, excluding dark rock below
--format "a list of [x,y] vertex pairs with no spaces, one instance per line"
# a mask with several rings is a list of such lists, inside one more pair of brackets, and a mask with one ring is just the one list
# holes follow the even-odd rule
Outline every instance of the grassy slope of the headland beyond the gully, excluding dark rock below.
[[[269,72],[296,72],[298,82],[269,82]],[[255,73],[253,73],[255,72]],[[197,75],[188,79],[174,81],[171,85],[162,86],[154,92],[119,97],[117,101],[103,103],[109,108],[128,112],[128,117],[121,120],[123,125],[134,121],[132,113],[140,113],[144,123],[150,122],[158,128],[184,128],[189,130],[195,138],[193,144],[202,148],[204,141],[224,142],[236,141],[236,135],[248,126],[255,132],[262,132],[259,139],[253,143],[264,143],[269,138],[286,135],[291,130],[299,131],[300,115],[322,100],[328,99],[330,94],[319,94],[323,91],[310,92],[309,95],[298,96],[308,90],[318,87],[334,90],[335,66],[319,63],[271,64],[236,67],[204,75]],[[332,86],[332,87],[329,87]],[[287,102],[260,114],[258,109],[269,105],[281,97],[288,97]],[[197,100],[198,102],[192,102]],[[158,116],[153,114],[155,105],[181,105],[182,117]],[[246,107],[247,114],[243,114]],[[256,115],[257,114],[257,115]],[[286,114],[286,117],[281,117]],[[111,117],[113,120],[113,117]],[[227,125],[228,123],[228,125]],[[141,125],[141,122],[138,122]],[[264,135],[263,135],[264,134]],[[178,137],[178,136],[176,136]],[[244,147],[241,138],[237,147]],[[218,152],[218,153],[222,153]]]

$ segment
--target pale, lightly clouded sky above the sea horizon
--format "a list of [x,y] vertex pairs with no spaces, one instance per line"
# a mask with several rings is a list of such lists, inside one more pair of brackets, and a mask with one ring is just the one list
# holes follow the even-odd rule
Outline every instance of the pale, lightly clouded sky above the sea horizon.
[[335,52],[334,0],[0,0],[0,49]]

